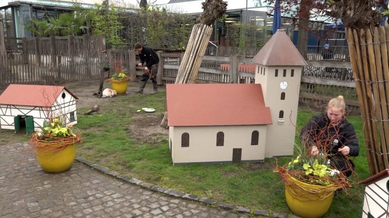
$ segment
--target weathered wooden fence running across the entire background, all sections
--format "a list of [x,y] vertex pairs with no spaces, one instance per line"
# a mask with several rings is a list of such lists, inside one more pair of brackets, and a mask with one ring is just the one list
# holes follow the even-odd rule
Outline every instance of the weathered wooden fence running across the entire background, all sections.
[[[0,49],[0,85],[58,84],[62,81],[102,78],[106,76],[103,68],[108,63],[114,66],[119,60],[122,60],[124,71],[132,79],[143,74],[143,68],[136,66],[139,60],[134,50],[105,51],[104,42],[104,35],[5,38],[6,52],[1,55],[4,49]],[[175,83],[183,53],[157,53],[160,59],[158,84]],[[1,58],[4,56],[6,58]],[[359,114],[350,62],[320,60],[307,63],[302,72],[300,90],[304,105],[319,107],[331,97],[344,95],[350,113]],[[254,72],[255,65],[251,58],[206,55],[196,82],[254,83]],[[112,73],[111,68],[109,75]]]

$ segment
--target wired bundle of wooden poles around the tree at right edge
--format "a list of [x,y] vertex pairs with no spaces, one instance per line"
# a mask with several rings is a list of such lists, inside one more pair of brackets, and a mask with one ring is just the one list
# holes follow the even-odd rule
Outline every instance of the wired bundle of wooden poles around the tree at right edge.
[[[371,34],[373,33],[373,34]],[[371,175],[389,168],[389,27],[346,29]]]

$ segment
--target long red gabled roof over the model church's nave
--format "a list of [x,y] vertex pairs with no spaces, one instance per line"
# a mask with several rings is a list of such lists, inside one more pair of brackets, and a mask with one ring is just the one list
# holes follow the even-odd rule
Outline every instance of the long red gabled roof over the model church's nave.
[[261,84],[167,84],[169,126],[272,124]]

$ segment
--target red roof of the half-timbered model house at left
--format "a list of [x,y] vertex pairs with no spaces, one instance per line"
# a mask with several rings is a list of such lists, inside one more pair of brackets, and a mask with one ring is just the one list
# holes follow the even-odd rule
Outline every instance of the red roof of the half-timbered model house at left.
[[51,107],[63,90],[78,99],[64,86],[10,84],[0,95],[0,104]]

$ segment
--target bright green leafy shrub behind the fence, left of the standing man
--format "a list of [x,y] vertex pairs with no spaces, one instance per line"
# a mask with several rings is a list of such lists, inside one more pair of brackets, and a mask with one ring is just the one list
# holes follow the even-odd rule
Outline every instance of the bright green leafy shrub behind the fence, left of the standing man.
[[108,13],[104,5],[95,4],[95,8],[87,11],[88,23],[93,35],[105,34],[107,47],[124,47],[124,38],[119,34],[124,26],[119,22],[119,9],[113,4]]

